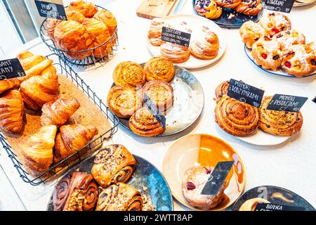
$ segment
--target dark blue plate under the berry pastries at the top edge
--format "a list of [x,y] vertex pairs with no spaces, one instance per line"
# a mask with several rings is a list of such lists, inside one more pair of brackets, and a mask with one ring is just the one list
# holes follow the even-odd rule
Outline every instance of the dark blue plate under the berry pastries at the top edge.
[[[193,5],[193,9],[195,11],[195,13],[197,13],[197,11],[195,10],[195,2],[197,0],[193,0],[192,1],[192,5]],[[262,2],[263,4],[263,2]],[[264,8],[264,7],[263,7]],[[217,23],[220,27],[225,27],[225,28],[239,28],[242,26],[242,24],[246,21],[252,20],[254,22],[257,22],[262,14],[264,9],[258,14],[258,15],[244,15],[242,13],[237,13],[234,9],[232,8],[224,8],[223,9],[223,13],[222,15],[220,15],[220,18],[216,19],[216,20],[212,20],[214,23]],[[197,13],[197,15],[199,15],[199,13]],[[228,17],[231,18],[228,18]]]

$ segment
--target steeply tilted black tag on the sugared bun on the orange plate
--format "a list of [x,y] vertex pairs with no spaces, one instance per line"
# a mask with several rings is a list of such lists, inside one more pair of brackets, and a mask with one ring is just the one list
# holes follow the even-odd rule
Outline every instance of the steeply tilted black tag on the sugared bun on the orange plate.
[[201,194],[202,195],[216,195],[234,165],[234,161],[218,162],[216,167],[211,172]]

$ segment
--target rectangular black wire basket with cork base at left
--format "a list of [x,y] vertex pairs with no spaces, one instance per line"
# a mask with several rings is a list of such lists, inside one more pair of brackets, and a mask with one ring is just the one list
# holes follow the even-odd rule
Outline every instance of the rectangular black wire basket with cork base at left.
[[69,167],[74,165],[75,162],[80,162],[81,160],[84,160],[84,158],[87,158],[89,155],[96,152],[96,150],[98,150],[98,148],[102,145],[104,141],[112,138],[112,136],[117,132],[117,126],[119,125],[119,119],[117,118],[117,116],[113,115],[110,112],[109,108],[107,108],[103,101],[98,96],[96,96],[96,92],[92,91],[90,87],[84,82],[84,80],[81,79],[79,75],[77,75],[77,73],[74,72],[74,70],[72,70],[72,68],[67,65],[67,63],[62,62],[61,59],[58,58],[58,56],[56,56],[54,53],[46,56],[46,58],[53,58],[54,62],[56,62],[56,60],[59,60],[59,63],[53,64],[55,65],[55,68],[57,70],[59,69],[58,72],[60,72],[61,75],[65,75],[67,78],[71,79],[72,82],[74,82],[74,84],[76,84],[77,87],[81,89],[81,91],[83,91],[89,99],[91,99],[91,101],[93,101],[93,103],[101,110],[105,117],[107,117],[107,120],[109,120],[111,124],[111,128],[105,131],[105,133],[96,137],[96,139],[90,141],[86,146],[78,150],[76,153],[65,158],[65,160],[58,162],[50,169],[42,172],[41,174],[39,174],[39,176],[36,177],[31,176],[25,170],[22,163],[18,159],[18,156],[15,155],[10,144],[0,131],[0,143],[3,146],[4,150],[6,150],[6,153],[8,153],[8,158],[10,158],[13,162],[13,165],[18,171],[20,178],[26,183],[32,184],[33,186],[42,184],[45,181],[48,181],[48,179],[51,180],[54,178],[53,176],[57,178],[57,176],[60,176],[61,174],[66,172]]

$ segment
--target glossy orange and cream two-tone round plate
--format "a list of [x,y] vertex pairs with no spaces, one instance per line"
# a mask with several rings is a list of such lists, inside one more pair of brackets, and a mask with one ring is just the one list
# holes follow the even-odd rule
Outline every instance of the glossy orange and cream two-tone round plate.
[[216,167],[218,162],[235,161],[227,178],[225,198],[214,210],[223,210],[232,205],[242,194],[245,184],[245,172],[242,160],[228,143],[209,134],[190,134],[178,139],[169,147],[164,162],[163,173],[171,188],[171,193],[183,205],[192,207],[185,200],[182,192],[182,182],[185,171],[195,166],[204,165]]

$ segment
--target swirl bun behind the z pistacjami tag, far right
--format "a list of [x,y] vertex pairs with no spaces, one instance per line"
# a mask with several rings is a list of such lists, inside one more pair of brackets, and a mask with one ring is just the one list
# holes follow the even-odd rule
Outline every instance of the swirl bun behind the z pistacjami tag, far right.
[[301,130],[303,116],[300,111],[297,113],[267,110],[272,96],[265,96],[260,107],[259,128],[269,134],[279,136],[290,136]]

